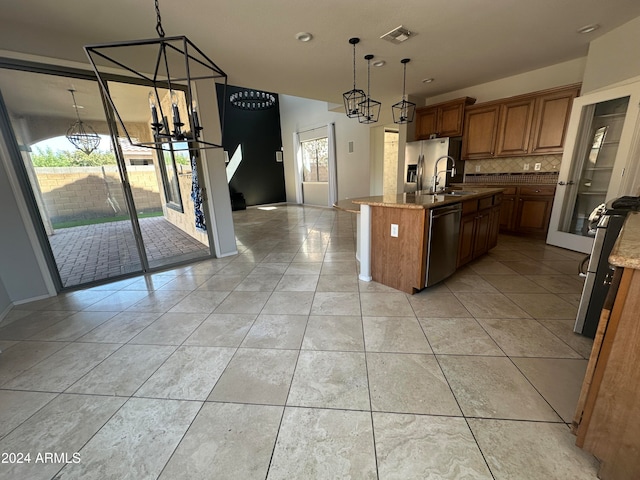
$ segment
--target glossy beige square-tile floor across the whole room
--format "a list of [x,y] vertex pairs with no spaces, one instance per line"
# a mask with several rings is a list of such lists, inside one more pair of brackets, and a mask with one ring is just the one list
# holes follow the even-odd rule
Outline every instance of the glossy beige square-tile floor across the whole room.
[[9,312],[0,452],[31,463],[0,479],[596,478],[581,254],[501,236],[411,296],[358,281],[352,214],[234,215],[239,255]]

